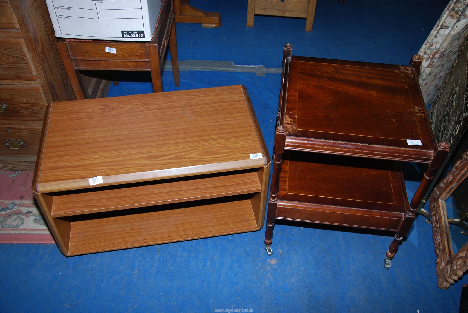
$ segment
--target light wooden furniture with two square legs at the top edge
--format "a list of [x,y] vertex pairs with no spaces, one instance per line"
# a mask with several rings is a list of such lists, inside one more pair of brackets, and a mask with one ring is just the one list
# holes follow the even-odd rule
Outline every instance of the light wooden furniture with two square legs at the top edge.
[[305,17],[306,31],[312,31],[317,0],[249,0],[247,27],[254,27],[255,14],[287,17]]

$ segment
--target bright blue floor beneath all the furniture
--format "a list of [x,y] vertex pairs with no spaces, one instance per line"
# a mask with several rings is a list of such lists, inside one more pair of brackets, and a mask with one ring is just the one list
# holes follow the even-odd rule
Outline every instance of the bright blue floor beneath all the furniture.
[[[256,16],[247,1],[192,0],[221,13],[222,26],[177,23],[179,60],[234,61],[279,68],[283,45],[303,56],[408,64],[448,1],[318,0],[305,19]],[[152,92],[147,73],[122,73],[109,97]],[[182,71],[164,91],[245,85],[265,142],[273,145],[280,74]],[[407,177],[418,177],[406,167]],[[417,188],[407,181],[408,196]],[[427,208],[427,207],[426,207]],[[0,312],[458,312],[463,279],[437,288],[431,225],[418,216],[392,268],[392,234],[278,223],[274,254],[259,232],[66,258],[55,245],[0,245]],[[466,280],[466,279],[465,279]],[[232,312],[232,311],[231,311]]]

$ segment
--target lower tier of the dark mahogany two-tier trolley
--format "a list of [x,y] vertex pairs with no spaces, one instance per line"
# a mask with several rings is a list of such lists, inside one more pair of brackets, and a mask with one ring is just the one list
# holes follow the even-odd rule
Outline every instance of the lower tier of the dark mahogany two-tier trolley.
[[407,208],[403,175],[395,162],[283,154],[277,219],[397,230]]

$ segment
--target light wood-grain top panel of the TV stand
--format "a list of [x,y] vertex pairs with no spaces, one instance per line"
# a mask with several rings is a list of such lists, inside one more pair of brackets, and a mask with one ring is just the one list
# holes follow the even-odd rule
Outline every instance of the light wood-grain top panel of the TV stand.
[[97,176],[104,186],[269,162],[241,85],[52,103],[44,125],[37,192],[88,188]]

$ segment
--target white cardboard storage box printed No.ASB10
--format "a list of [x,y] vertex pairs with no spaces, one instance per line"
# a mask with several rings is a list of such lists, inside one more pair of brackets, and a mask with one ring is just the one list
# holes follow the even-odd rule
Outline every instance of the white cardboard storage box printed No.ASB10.
[[151,41],[161,0],[46,0],[55,36]]

